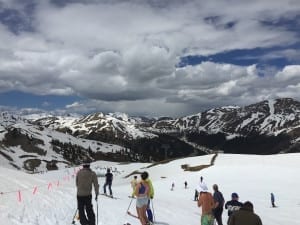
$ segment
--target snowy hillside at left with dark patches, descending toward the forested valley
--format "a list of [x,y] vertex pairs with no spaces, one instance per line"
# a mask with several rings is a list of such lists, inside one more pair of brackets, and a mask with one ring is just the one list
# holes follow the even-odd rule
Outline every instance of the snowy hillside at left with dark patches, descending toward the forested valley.
[[[38,140],[40,144],[35,145],[40,148],[43,153],[38,152],[28,152],[25,151],[20,145],[16,146],[5,146],[2,145],[0,148],[0,153],[5,154],[3,157],[0,154],[0,163],[8,168],[18,167],[24,169],[24,163],[29,159],[39,159],[41,165],[36,168],[36,171],[45,171],[47,162],[52,160],[58,161],[56,164],[58,168],[65,168],[69,166],[69,162],[63,157],[62,153],[54,151],[53,140],[57,140],[60,143],[71,143],[72,145],[77,145],[83,149],[90,149],[93,152],[116,152],[123,149],[123,147],[113,144],[107,144],[100,141],[87,140],[83,138],[76,138],[72,135],[65,134],[62,132],[57,132],[55,130],[40,127],[37,125],[29,124],[26,120],[16,119],[12,120],[11,117],[0,118],[0,142],[5,139],[5,135],[11,130],[18,130],[21,135],[29,138],[30,140]],[[13,143],[12,143],[13,144]]]

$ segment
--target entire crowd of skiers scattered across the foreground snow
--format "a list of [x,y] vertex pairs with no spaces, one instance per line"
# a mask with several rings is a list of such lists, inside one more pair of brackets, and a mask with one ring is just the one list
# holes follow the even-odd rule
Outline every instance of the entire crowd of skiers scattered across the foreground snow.
[[[112,181],[113,174],[110,169],[107,169],[103,193],[106,195],[106,188],[108,186],[110,197],[113,197]],[[154,188],[149,179],[149,174],[146,171],[141,173],[139,180],[137,176],[134,176],[130,183],[132,193],[129,197],[136,199],[137,216],[131,214],[129,211],[127,213],[139,219],[141,225],[152,225],[153,214],[150,203],[154,197]],[[76,186],[80,223],[81,225],[95,225],[95,213],[92,206],[92,187],[94,186],[95,200],[97,201],[99,184],[97,175],[90,169],[89,163],[83,164],[83,168],[77,173]],[[186,181],[184,182],[184,186],[187,188]],[[208,191],[203,177],[200,177],[199,187],[195,190],[194,200],[197,201],[198,207],[201,207],[201,225],[213,225],[214,220],[216,220],[217,225],[223,225],[222,213],[224,206],[228,210],[228,225],[262,225],[261,219],[254,213],[253,204],[250,201],[241,203],[239,202],[238,194],[232,193],[231,200],[225,203],[218,185],[214,184],[212,187],[213,194]],[[174,190],[174,188],[175,183],[173,182],[171,190]],[[273,207],[275,207],[274,201],[274,194],[271,193]]]

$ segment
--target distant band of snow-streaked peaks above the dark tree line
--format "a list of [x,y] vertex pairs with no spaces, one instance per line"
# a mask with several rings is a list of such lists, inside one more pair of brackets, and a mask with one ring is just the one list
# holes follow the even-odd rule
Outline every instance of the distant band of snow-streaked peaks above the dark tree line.
[[155,133],[222,132],[227,138],[251,133],[278,135],[300,129],[300,102],[290,98],[262,101],[253,105],[226,106],[210,109],[177,119],[146,119],[114,113],[95,113],[85,117],[39,117],[36,123],[56,130],[69,131],[75,136],[94,132],[112,132],[126,139],[153,138]]

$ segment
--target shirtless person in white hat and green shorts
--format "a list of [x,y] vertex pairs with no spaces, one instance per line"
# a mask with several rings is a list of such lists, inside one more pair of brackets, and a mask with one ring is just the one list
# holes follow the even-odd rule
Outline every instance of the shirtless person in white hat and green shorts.
[[200,190],[200,195],[198,199],[198,207],[202,207],[201,212],[201,225],[212,225],[214,222],[213,217],[213,207],[214,199],[210,192],[208,192],[207,187]]

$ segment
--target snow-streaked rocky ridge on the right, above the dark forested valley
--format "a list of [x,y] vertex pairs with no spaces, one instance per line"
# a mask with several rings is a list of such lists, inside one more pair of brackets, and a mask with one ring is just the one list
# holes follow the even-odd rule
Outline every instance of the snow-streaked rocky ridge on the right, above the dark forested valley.
[[227,137],[260,134],[278,135],[300,127],[300,103],[293,99],[266,100],[245,107],[227,106],[210,109],[174,120],[160,120],[153,126],[156,131],[222,132]]

